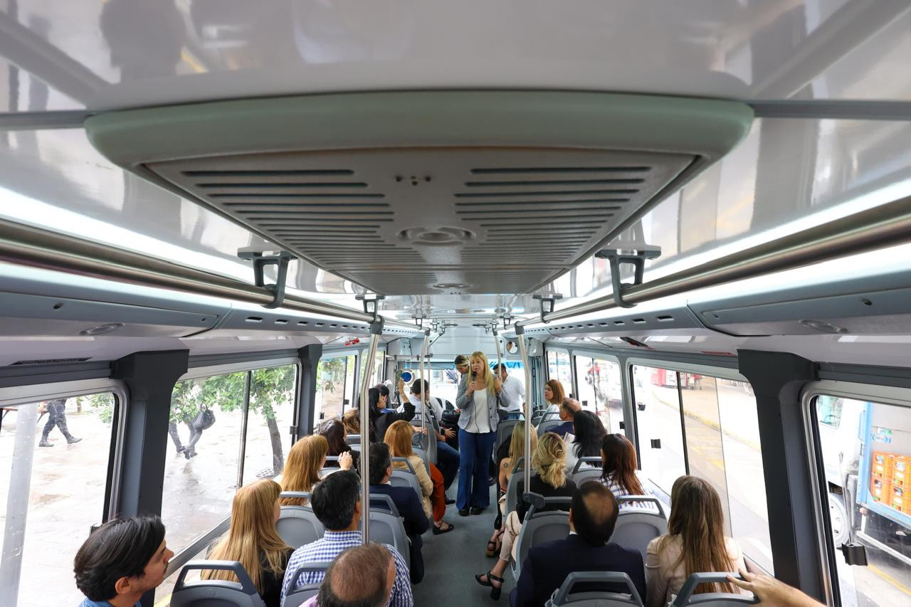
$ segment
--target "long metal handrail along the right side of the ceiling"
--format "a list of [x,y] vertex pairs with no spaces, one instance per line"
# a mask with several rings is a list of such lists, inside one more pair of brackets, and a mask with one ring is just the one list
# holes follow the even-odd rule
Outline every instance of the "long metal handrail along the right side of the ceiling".
[[[678,273],[631,286],[623,301],[640,304],[659,297],[792,270],[844,255],[873,251],[911,241],[911,196],[829,221]],[[553,322],[616,307],[613,294],[544,315]],[[528,320],[521,325],[534,324]]]

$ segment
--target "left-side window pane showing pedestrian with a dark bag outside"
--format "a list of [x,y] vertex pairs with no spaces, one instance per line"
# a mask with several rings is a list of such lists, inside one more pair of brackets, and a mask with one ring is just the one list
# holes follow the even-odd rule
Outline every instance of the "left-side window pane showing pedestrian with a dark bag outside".
[[188,379],[171,393],[161,519],[175,552],[230,515],[246,375]]

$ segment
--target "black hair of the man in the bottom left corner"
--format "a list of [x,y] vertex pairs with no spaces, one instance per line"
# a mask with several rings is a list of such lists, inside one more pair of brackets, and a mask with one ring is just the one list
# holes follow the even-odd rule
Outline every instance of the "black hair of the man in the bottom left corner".
[[92,531],[76,553],[77,588],[91,601],[113,599],[118,594],[117,581],[141,578],[164,539],[165,526],[157,516],[108,520]]

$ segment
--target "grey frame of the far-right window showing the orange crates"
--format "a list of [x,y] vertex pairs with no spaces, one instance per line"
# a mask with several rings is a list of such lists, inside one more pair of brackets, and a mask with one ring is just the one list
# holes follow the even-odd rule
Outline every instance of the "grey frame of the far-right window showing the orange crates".
[[[800,405],[804,419],[804,440],[807,457],[811,462],[810,481],[817,499],[814,500],[814,522],[817,539],[817,550],[824,563],[821,571],[824,581],[826,601],[829,604],[842,604],[841,584],[838,580],[834,539],[829,531],[832,522],[829,520],[828,485],[825,480],[822,440],[819,435],[819,420],[816,416],[814,400],[817,396],[837,396],[855,400],[872,401],[881,405],[903,406],[911,409],[911,388],[898,386],[881,386],[859,382],[844,382],[834,379],[822,379],[807,382],[801,388]],[[836,601],[837,598],[837,601]]]

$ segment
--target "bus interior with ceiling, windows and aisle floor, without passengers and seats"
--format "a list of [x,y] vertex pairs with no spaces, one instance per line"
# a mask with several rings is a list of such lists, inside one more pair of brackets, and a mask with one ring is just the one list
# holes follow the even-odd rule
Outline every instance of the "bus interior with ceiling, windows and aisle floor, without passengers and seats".
[[[751,571],[911,605],[911,3],[0,0],[0,605],[149,512],[165,607],[296,440],[476,351]],[[415,604],[486,604],[448,515]]]

